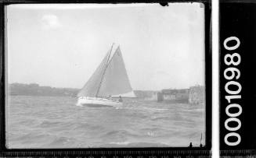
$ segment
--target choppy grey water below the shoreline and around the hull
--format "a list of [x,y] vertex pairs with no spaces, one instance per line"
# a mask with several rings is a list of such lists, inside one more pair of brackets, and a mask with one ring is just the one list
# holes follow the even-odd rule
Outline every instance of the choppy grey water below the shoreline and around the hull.
[[71,97],[11,96],[9,148],[199,146],[204,105],[127,99],[124,106],[78,107]]

